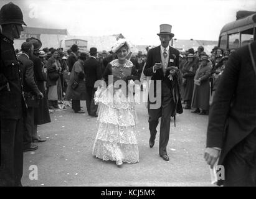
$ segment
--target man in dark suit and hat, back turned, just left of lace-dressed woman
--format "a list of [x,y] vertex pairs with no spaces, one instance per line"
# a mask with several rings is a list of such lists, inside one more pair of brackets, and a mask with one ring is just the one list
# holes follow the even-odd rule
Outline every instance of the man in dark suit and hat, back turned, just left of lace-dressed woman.
[[94,103],[94,83],[102,78],[102,67],[100,62],[97,61],[97,49],[90,49],[90,58],[85,61],[85,82],[87,88],[88,99],[86,101],[87,112],[92,117],[97,117],[98,106]]

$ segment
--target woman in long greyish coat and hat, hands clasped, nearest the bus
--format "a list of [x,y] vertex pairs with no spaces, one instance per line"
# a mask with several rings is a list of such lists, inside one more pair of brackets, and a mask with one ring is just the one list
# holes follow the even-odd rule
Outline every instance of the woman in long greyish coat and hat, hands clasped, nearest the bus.
[[[207,56],[201,57],[201,65],[196,71],[194,78],[194,91],[192,96],[192,108],[196,108],[192,113],[208,114],[210,101],[210,83],[211,76],[210,60]],[[201,111],[200,111],[201,109]]]

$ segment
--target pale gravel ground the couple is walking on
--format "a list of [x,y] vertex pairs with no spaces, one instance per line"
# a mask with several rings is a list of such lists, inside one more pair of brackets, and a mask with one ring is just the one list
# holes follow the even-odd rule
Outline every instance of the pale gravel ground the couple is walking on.
[[[83,109],[86,109],[82,101]],[[140,162],[116,167],[92,156],[97,118],[72,109],[50,114],[52,122],[39,126],[46,142],[24,153],[23,185],[29,186],[212,186],[209,167],[204,162],[207,116],[184,110],[171,122],[169,162],[159,157],[159,133],[149,148],[148,113],[145,104],[136,105]],[[159,132],[159,125],[158,125]],[[29,167],[36,165],[38,179],[30,180]]]

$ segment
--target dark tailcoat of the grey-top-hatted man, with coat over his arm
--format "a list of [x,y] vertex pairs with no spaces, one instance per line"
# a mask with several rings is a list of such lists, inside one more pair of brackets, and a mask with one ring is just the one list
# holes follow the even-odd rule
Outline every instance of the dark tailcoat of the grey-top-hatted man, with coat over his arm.
[[[171,59],[174,62],[171,62]],[[153,72],[154,63],[161,62],[161,47],[155,47],[154,49],[149,50],[148,58],[144,69],[144,74],[146,76],[152,76],[151,80],[161,80],[166,83],[168,88],[173,93],[174,98],[174,107],[173,107],[173,114],[175,116],[176,113],[183,113],[183,106],[181,104],[181,72],[178,70],[176,75],[174,76],[174,80],[171,81],[168,78],[168,73],[164,76],[163,70],[156,70]],[[179,50],[174,49],[173,47],[169,47],[169,62],[168,67],[178,67],[179,68]],[[151,81],[151,84],[154,83],[154,95],[156,94],[156,81]],[[162,92],[163,96],[163,92]]]

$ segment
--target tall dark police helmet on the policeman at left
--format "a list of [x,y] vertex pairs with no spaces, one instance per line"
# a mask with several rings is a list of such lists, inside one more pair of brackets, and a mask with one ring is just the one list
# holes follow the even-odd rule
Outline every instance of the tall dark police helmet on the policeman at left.
[[19,6],[9,2],[2,6],[0,10],[0,25],[3,24],[23,24],[23,14]]

